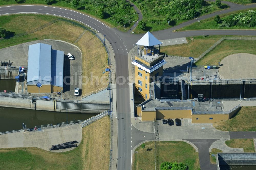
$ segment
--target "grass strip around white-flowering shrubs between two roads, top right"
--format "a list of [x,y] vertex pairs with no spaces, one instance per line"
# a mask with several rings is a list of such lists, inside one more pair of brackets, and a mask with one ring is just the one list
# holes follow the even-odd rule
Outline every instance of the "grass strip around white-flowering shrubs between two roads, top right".
[[[222,19],[223,17],[229,16],[231,14],[238,14],[240,12],[246,12],[248,10],[256,10],[256,8],[250,8],[246,10],[239,10],[239,11],[234,11],[231,13],[226,13],[219,15],[220,18]],[[216,24],[214,21],[214,17],[207,18],[205,20],[200,20],[201,22],[195,22],[193,24],[190,24],[188,26],[185,26],[183,28],[177,29],[177,31],[186,31],[186,30],[204,30],[204,29],[256,29],[256,27],[247,27],[244,25],[235,25],[231,27],[219,27],[219,24]]]

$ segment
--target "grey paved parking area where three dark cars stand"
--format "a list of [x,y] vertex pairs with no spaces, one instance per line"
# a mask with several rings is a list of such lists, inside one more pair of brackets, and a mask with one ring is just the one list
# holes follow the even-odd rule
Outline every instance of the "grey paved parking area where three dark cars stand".
[[[174,119],[173,119],[174,120]],[[158,120],[161,140],[168,139],[229,139],[229,132],[216,130],[211,123],[191,123],[191,119],[182,119],[181,126],[169,126]],[[175,122],[175,120],[174,120]]]

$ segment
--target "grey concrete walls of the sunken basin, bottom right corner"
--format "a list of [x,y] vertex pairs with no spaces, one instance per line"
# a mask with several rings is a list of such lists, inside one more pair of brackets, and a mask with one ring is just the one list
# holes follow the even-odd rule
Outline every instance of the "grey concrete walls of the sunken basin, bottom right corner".
[[256,165],[256,153],[218,153],[219,165]]

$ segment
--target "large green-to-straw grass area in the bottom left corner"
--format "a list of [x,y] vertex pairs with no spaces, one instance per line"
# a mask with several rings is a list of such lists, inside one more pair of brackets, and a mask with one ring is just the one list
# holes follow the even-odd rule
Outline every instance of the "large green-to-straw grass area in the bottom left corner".
[[110,124],[108,116],[84,127],[82,141],[79,142],[81,143],[78,147],[63,153],[53,153],[39,148],[1,148],[0,169],[109,168]]

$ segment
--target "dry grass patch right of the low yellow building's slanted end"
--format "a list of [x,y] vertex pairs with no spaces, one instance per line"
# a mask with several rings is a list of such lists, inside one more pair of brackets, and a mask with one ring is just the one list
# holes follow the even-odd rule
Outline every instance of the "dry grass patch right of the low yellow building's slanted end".
[[[246,120],[244,123],[243,120]],[[256,131],[256,107],[243,106],[229,120],[213,123],[218,130],[223,131]]]

